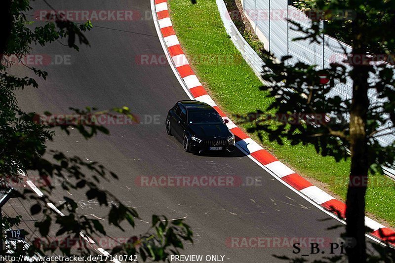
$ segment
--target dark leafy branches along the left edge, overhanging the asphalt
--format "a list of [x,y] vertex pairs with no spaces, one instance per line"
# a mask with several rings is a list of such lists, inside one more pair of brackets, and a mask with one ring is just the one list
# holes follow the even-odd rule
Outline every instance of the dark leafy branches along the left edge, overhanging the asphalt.
[[[49,6],[51,7],[51,6]],[[79,49],[78,45],[89,45],[86,32],[92,30],[90,21],[75,24],[64,18],[56,17],[42,25],[29,21],[25,13],[32,9],[29,0],[4,0],[0,3],[1,17],[4,22],[1,39],[0,54],[0,178],[7,185],[23,181],[25,172],[40,175],[43,181],[60,181],[61,188],[66,190],[76,189],[85,192],[88,199],[95,199],[100,206],[107,207],[108,224],[123,231],[133,232],[135,219],[139,218],[137,211],[126,207],[118,198],[107,190],[100,188],[103,181],[117,180],[118,176],[106,169],[99,162],[87,162],[79,156],[68,156],[59,150],[48,150],[47,141],[54,140],[54,128],[70,133],[74,128],[85,139],[90,139],[98,133],[109,134],[106,127],[97,123],[72,121],[62,124],[42,123],[37,121],[37,113],[24,112],[18,106],[15,92],[25,88],[39,88],[36,78],[45,79],[47,73],[35,67],[28,67],[34,77],[20,77],[9,73],[12,62],[6,58],[16,55],[23,58],[35,45],[45,46],[48,43],[67,39],[70,48]],[[136,121],[136,116],[127,107],[113,108],[97,112],[93,107],[83,110],[71,109],[76,115],[92,116],[95,114],[113,113],[125,114],[131,121]],[[50,115],[51,113],[41,113]],[[30,208],[32,215],[41,214],[42,219],[35,223],[40,240],[31,246],[26,253],[40,252],[41,255],[61,251],[64,255],[91,255],[94,253],[92,246],[84,241],[81,236],[106,236],[103,224],[77,212],[77,203],[69,197],[64,197],[64,202],[57,209],[64,214],[61,216],[53,209],[47,207],[51,203],[51,194],[55,187],[47,184],[41,188],[44,196],[37,196],[32,190],[25,188],[17,192],[19,198],[33,203]],[[15,189],[15,191],[17,191]],[[6,228],[17,226],[22,218],[17,216],[2,217],[0,220]],[[121,227],[126,222],[128,228]],[[123,224],[124,225],[124,224]],[[56,236],[48,236],[51,229],[56,229]],[[112,253],[140,255],[143,261],[164,261],[169,254],[179,253],[183,249],[183,242],[192,242],[192,231],[183,220],[168,221],[166,217],[153,215],[152,225],[146,233],[130,235],[128,242],[118,245]],[[2,237],[3,238],[3,237]],[[72,249],[73,244],[82,242],[78,251]],[[64,243],[69,244],[64,246]],[[73,243],[73,244],[72,244]],[[4,251],[2,253],[5,253]],[[10,253],[8,251],[7,253]],[[21,253],[17,251],[15,253]]]

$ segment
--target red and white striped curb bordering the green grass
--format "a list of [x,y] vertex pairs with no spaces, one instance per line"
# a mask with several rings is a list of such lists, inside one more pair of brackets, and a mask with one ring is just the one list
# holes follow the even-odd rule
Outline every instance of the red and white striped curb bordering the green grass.
[[[275,156],[254,142],[247,134],[238,128],[237,125],[221,111],[221,109],[219,109],[201,85],[189,65],[184,52],[182,51],[180,42],[175,35],[170,20],[167,0],[152,0],[151,4],[154,23],[157,23],[156,27],[159,38],[163,39],[162,43],[164,42],[165,45],[163,49],[165,50],[165,53],[167,53],[166,56],[171,58],[169,60],[172,64],[171,67],[173,68],[173,71],[174,68],[176,69],[174,73],[179,81],[180,78],[182,79],[180,83],[184,89],[187,89],[186,91],[189,97],[197,101],[207,103],[212,106],[223,119],[229,120],[226,125],[233,134],[235,134],[237,147],[248,157],[260,164],[260,166],[265,168],[265,170],[271,171],[271,174],[277,177],[277,179],[280,179],[285,185],[296,189],[299,193],[307,196],[325,210],[336,214],[341,219],[345,219],[346,204],[344,202],[337,200],[330,194],[324,192],[320,188],[317,188],[299,174],[295,173],[288,166],[278,161]],[[342,222],[344,223],[344,220]],[[373,229],[370,233],[371,235],[395,245],[395,231],[393,229],[381,225],[367,217],[365,217],[365,225]]]

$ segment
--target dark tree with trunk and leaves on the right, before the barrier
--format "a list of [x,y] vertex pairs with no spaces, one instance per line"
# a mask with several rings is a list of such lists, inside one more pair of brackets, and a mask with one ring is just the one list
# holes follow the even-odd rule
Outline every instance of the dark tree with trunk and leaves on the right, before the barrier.
[[[274,98],[268,110],[276,112],[277,117],[281,115],[281,121],[260,119],[250,131],[266,131],[269,139],[279,144],[283,139],[293,145],[312,144],[317,153],[333,156],[337,161],[351,158],[350,177],[364,180],[369,169],[382,173],[382,167],[393,166],[395,160],[395,142],[383,145],[379,141],[384,135],[394,134],[394,68],[386,63],[360,63],[368,52],[380,51],[391,56],[395,45],[395,1],[316,0],[314,7],[307,12],[312,18],[309,28],[289,21],[291,29],[304,35],[293,40],[322,44],[323,34],[344,32],[342,27],[347,22],[352,52],[344,50],[347,59],[325,69],[303,62],[288,66],[289,56],[275,58],[266,52],[270,58],[264,59],[262,76],[271,85],[261,89]],[[339,23],[329,21],[321,28],[317,13],[327,20],[336,19],[333,10],[350,10],[353,16]],[[349,63],[351,70],[345,63]],[[329,83],[320,84],[320,75],[326,75]],[[371,75],[376,79],[369,78]],[[352,97],[330,95],[336,85],[346,82],[346,77],[353,80]],[[371,91],[377,94],[377,103],[370,103]],[[356,246],[347,249],[350,262],[366,261],[365,193],[366,186],[349,185],[346,236],[356,240]]]

